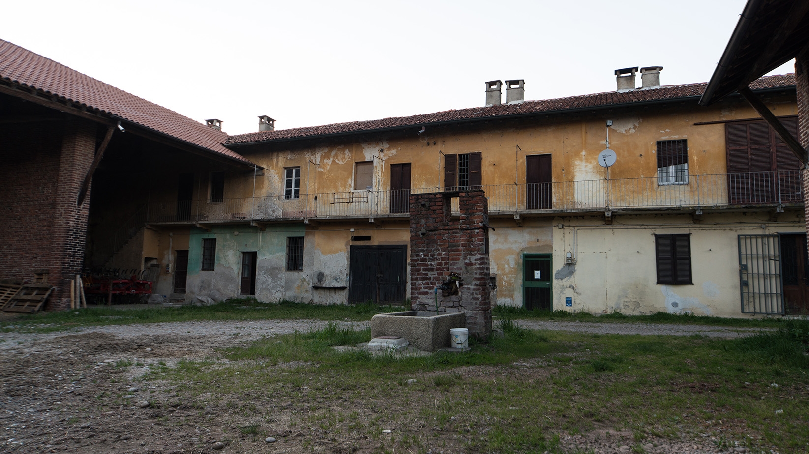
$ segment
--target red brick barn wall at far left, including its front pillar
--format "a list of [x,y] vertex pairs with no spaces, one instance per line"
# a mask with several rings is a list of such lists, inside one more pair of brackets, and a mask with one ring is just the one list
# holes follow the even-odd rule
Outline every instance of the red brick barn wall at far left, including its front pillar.
[[0,277],[31,280],[48,270],[56,287],[45,309],[70,307],[70,279],[80,273],[87,202],[78,189],[95,153],[95,125],[15,124],[0,129]]

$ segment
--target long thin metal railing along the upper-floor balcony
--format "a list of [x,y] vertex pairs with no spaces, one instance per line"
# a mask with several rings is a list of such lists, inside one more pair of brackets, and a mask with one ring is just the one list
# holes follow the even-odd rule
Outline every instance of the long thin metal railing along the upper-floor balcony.
[[[688,179],[677,183],[653,177],[483,185],[481,188],[489,199],[490,214],[803,204],[799,170],[688,175]],[[263,195],[225,199],[219,203],[205,200],[153,203],[148,219],[176,223],[407,216],[410,192],[436,191],[442,188],[324,192],[300,194],[298,198]]]

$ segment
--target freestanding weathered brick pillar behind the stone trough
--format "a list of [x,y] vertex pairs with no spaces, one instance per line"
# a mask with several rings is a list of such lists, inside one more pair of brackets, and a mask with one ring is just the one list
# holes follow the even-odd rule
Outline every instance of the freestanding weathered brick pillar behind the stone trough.
[[[453,220],[451,200],[460,216]],[[489,211],[482,190],[410,195],[410,288],[413,309],[436,310],[435,288],[460,275],[458,295],[438,291],[438,312],[463,311],[469,334],[492,331]]]

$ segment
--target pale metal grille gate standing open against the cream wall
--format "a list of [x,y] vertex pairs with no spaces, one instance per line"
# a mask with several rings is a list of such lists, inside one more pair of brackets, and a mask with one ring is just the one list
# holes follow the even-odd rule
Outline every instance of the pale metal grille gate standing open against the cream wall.
[[778,235],[739,235],[742,313],[784,313]]

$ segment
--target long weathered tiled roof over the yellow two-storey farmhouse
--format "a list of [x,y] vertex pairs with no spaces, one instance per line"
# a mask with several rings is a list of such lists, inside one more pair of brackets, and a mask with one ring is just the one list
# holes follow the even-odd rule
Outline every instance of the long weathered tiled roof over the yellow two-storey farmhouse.
[[[248,144],[261,141],[294,140],[329,134],[350,132],[368,132],[378,129],[413,127],[422,124],[436,124],[464,120],[480,120],[486,118],[531,115],[544,112],[565,111],[570,109],[607,107],[629,103],[663,102],[671,99],[699,97],[705,90],[705,82],[688,85],[661,86],[648,90],[629,90],[623,92],[609,91],[595,95],[570,96],[569,98],[544,99],[540,101],[524,101],[523,103],[501,104],[491,107],[472,107],[451,111],[441,111],[417,116],[400,116],[382,120],[353,121],[349,123],[325,124],[307,128],[278,129],[276,131],[250,132],[227,138],[226,145]],[[753,90],[763,90],[795,85],[794,74],[769,76],[752,82]]]

